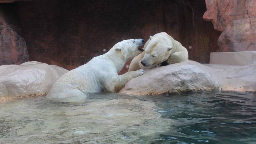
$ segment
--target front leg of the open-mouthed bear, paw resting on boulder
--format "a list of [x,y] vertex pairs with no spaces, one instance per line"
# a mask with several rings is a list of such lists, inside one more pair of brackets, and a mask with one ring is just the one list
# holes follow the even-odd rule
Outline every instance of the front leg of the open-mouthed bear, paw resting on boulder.
[[131,71],[122,75],[118,75],[116,77],[113,77],[110,83],[108,83],[108,85],[105,86],[105,88],[110,92],[118,92],[132,78],[141,76],[144,73],[145,70],[140,69],[137,71]]

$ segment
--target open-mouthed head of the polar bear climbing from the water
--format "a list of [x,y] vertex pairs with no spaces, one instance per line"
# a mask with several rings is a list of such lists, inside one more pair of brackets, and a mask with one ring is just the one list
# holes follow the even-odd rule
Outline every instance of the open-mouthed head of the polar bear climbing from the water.
[[115,44],[114,48],[115,51],[122,53],[126,60],[129,60],[143,52],[143,44],[143,39],[130,39]]

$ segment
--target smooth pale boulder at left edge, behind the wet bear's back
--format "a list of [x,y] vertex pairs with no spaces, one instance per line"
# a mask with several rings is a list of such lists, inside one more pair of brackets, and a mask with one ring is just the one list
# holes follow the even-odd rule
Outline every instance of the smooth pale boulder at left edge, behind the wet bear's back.
[[68,70],[37,61],[0,66],[0,101],[46,95]]

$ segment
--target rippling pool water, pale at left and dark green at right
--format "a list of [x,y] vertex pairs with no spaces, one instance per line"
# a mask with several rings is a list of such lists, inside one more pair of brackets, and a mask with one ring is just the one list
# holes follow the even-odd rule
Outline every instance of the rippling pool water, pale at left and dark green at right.
[[0,143],[256,144],[256,94],[14,99],[0,103]]

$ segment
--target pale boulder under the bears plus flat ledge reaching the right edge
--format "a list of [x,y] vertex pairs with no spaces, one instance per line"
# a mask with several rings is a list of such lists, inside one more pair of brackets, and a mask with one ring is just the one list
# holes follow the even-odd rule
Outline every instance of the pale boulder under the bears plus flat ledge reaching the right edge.
[[188,60],[146,70],[119,93],[159,95],[210,90],[256,91],[256,66],[200,64]]

